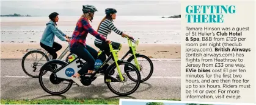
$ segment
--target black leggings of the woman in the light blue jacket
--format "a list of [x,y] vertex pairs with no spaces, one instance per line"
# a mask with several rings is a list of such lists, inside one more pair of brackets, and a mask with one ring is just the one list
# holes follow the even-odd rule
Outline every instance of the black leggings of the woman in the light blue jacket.
[[53,59],[57,59],[57,51],[62,49],[62,46],[57,42],[53,42],[53,47],[46,46],[42,42],[40,42],[40,46],[45,49],[50,55],[53,55]]

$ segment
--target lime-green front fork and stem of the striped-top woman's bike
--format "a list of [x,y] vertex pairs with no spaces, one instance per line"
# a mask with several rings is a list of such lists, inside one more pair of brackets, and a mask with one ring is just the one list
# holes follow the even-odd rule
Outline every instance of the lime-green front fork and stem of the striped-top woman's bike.
[[[125,37],[125,38],[127,38],[127,37]],[[129,44],[130,50],[128,50],[128,52],[123,56],[122,59],[125,59],[126,56],[128,56],[131,53],[134,56],[135,66],[140,71],[141,69],[139,67],[139,63],[137,62],[137,58],[136,58],[136,54],[137,54],[136,53],[136,46],[139,45],[139,41],[137,40],[136,42],[134,42],[135,43],[135,45],[134,45],[130,38],[127,38],[127,40],[128,40],[128,44]]]

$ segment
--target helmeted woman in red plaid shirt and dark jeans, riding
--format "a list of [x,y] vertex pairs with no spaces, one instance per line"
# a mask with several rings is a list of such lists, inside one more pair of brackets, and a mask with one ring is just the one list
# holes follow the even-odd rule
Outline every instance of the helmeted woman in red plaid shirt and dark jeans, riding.
[[82,12],[84,14],[78,20],[70,41],[70,51],[86,61],[86,63],[82,66],[82,69],[71,76],[71,80],[75,81],[75,83],[79,86],[82,86],[79,76],[86,73],[87,70],[88,73],[93,72],[95,59],[98,56],[97,50],[86,44],[87,34],[90,33],[101,41],[107,41],[110,43],[109,39],[104,38],[103,35],[93,30],[89,23],[89,21],[92,21],[93,19],[94,12],[97,11],[97,8],[95,8],[93,5],[82,5]]

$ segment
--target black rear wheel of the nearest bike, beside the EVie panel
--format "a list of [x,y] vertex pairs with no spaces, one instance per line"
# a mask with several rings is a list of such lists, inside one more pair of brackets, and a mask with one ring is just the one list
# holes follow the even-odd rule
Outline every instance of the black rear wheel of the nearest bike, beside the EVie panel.
[[[53,61],[49,61],[48,63],[46,63],[42,69],[40,70],[40,73],[39,73],[39,83],[40,83],[40,86],[42,87],[43,90],[45,90],[45,92],[51,94],[51,95],[60,95],[60,94],[63,94],[65,92],[67,92],[72,84],[73,84],[73,81],[67,81],[67,80],[62,80],[61,78],[57,78],[56,74],[55,74],[55,71],[62,67],[62,66],[65,66],[67,63],[65,63],[64,61],[59,61],[59,60],[53,60]],[[58,67],[59,65],[59,67]],[[56,66],[54,67],[51,67],[51,66]],[[46,74],[45,75],[48,75],[48,76],[43,76],[43,72],[46,71]],[[45,85],[44,83],[44,79],[49,79],[49,81],[46,81],[45,83],[51,83],[51,85],[49,86],[56,86],[57,88],[59,88],[61,84],[66,84],[66,87],[64,87],[64,89],[57,89],[57,92],[54,92],[53,90],[50,90],[47,85]],[[63,81],[66,81],[66,83],[61,83]]]

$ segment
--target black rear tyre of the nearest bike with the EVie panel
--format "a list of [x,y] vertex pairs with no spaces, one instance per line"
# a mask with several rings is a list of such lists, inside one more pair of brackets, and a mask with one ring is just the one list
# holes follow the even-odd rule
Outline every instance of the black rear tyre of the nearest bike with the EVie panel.
[[71,88],[71,86],[72,86],[72,84],[73,84],[73,81],[69,81],[69,84],[68,84],[68,86],[67,86],[67,88],[66,89],[64,89],[64,90],[62,90],[62,91],[60,91],[60,92],[51,92],[50,90],[48,90],[44,85],[43,85],[43,81],[42,81],[42,76],[43,76],[43,70],[45,70],[46,69],[46,67],[48,66],[48,65],[51,65],[51,64],[59,64],[59,65],[62,65],[62,66],[65,66],[67,63],[65,63],[64,61],[60,61],[60,60],[51,60],[51,61],[48,61],[47,63],[45,63],[44,65],[43,65],[43,67],[40,69],[40,73],[39,73],[39,83],[40,83],[40,86],[42,87],[42,89],[43,90],[45,90],[45,92],[47,92],[47,93],[49,93],[49,94],[51,94],[51,95],[61,95],[61,94],[63,94],[63,93],[65,93],[65,92],[67,92],[70,88]]

